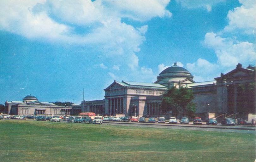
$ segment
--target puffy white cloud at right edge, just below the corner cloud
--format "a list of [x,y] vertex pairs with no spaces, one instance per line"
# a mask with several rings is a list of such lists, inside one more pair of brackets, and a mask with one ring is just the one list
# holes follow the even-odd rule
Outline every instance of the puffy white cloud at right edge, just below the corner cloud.
[[250,64],[256,61],[256,52],[253,43],[239,42],[230,38],[222,38],[211,32],[205,34],[203,44],[212,48],[221,66],[231,67],[238,63]]

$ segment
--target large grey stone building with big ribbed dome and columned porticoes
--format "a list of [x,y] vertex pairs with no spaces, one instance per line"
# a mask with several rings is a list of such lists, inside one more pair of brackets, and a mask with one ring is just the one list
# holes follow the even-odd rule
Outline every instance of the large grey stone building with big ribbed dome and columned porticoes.
[[117,116],[164,115],[160,96],[170,87],[187,87],[193,90],[197,116],[235,114],[248,119],[248,114],[255,114],[254,66],[243,68],[238,64],[234,70],[214,79],[195,82],[188,70],[175,63],[163,70],[154,83],[114,81],[104,89],[104,100],[82,102],[81,112]]

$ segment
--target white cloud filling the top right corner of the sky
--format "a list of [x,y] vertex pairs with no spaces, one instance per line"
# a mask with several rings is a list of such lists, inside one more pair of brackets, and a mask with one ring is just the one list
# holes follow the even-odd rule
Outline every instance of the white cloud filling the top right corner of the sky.
[[242,33],[252,34],[256,27],[256,1],[255,0],[240,0],[242,6],[236,7],[229,11],[227,18],[229,25],[224,28],[224,32],[232,32],[241,30]]

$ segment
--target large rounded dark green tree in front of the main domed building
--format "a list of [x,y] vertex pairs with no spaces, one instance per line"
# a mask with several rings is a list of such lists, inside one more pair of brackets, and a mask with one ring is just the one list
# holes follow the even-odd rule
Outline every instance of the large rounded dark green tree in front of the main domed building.
[[193,91],[188,88],[171,87],[162,98],[162,112],[172,111],[174,115],[183,114],[193,117],[196,104],[193,103]]

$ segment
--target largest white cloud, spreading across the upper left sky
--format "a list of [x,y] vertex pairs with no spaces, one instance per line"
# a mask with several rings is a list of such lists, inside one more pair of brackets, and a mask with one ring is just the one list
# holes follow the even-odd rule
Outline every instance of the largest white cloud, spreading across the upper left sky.
[[[139,70],[136,52],[146,40],[148,26],[135,28],[122,18],[147,21],[170,17],[170,0],[41,0],[0,1],[0,30],[30,39],[88,45],[97,49],[108,66]],[[113,59],[115,58],[115,59]]]

